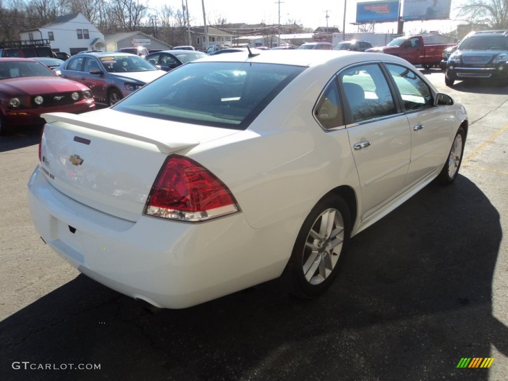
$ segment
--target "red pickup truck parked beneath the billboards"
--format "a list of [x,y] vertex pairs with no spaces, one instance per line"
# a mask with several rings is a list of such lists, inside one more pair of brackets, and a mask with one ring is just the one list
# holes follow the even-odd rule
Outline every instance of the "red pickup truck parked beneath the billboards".
[[422,65],[425,69],[438,66],[443,50],[455,44],[426,45],[422,36],[398,37],[387,46],[370,48],[366,52],[378,52],[396,55],[413,65]]

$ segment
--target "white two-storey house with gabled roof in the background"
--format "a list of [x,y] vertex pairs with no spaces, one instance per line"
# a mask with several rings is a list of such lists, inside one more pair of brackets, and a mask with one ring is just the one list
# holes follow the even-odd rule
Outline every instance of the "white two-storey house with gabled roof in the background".
[[21,40],[45,40],[56,52],[71,55],[83,50],[106,50],[104,35],[81,13],[59,16],[39,28],[22,31]]

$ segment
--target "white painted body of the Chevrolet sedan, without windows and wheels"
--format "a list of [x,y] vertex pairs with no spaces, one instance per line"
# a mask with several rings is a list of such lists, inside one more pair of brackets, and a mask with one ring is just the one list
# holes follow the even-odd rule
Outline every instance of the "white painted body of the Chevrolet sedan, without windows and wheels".
[[[160,307],[192,306],[280,276],[310,210],[338,187],[356,196],[352,236],[388,214],[439,173],[467,120],[457,104],[446,106],[444,119],[439,106],[324,131],[314,104],[337,70],[359,55],[272,53],[270,62],[309,67],[244,131],[114,109],[45,115],[43,160],[28,183],[39,234],[79,271],[114,290]],[[243,53],[204,60],[235,61],[237,54]],[[360,54],[366,61],[384,57]],[[416,124],[426,128],[414,131]],[[355,150],[362,141],[372,144]],[[171,153],[217,176],[240,211],[202,223],[143,214]],[[71,164],[72,155],[83,165]]]

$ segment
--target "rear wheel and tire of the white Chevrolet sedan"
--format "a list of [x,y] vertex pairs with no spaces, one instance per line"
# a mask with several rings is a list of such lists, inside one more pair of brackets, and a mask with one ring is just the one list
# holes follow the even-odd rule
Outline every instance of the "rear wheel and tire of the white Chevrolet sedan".
[[323,294],[337,276],[350,233],[351,214],[345,201],[325,196],[305,219],[282,274],[288,291],[306,299]]

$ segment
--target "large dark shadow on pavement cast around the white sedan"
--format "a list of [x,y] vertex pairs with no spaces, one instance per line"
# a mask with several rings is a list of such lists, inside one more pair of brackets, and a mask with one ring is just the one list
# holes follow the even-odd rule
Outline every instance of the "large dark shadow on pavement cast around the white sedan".
[[[492,313],[499,214],[463,176],[431,184],[354,237],[321,298],[275,281],[153,313],[80,275],[0,323],[9,380],[487,380],[463,357],[508,356]],[[120,265],[120,264],[119,264]],[[227,266],[227,263],[221,264]],[[24,370],[13,363],[100,364]],[[494,361],[492,367],[495,367]],[[29,369],[29,368],[28,368]]]

